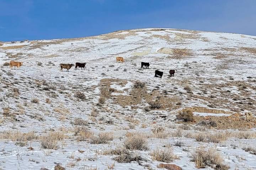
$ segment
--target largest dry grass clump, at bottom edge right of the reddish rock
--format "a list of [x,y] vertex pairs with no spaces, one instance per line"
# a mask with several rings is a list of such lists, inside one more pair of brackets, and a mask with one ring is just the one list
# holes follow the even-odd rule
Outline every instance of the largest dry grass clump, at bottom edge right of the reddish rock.
[[195,162],[196,168],[206,168],[210,166],[213,169],[228,170],[230,167],[223,164],[222,155],[214,148],[206,149],[198,147],[191,155],[191,161]]

